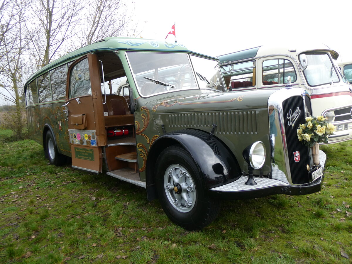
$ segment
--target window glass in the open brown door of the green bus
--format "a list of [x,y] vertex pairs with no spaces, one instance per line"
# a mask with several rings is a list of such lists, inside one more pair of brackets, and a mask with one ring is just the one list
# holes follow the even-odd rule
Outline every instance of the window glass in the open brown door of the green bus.
[[89,94],[92,94],[92,89],[90,88],[88,59],[85,58],[71,69],[69,97],[75,98]]

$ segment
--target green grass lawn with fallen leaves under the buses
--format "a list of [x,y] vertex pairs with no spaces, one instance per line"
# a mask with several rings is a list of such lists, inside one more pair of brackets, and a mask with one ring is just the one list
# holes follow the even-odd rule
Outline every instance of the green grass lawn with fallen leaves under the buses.
[[319,193],[225,201],[189,232],[141,187],[0,140],[0,263],[351,263],[352,141],[321,149]]

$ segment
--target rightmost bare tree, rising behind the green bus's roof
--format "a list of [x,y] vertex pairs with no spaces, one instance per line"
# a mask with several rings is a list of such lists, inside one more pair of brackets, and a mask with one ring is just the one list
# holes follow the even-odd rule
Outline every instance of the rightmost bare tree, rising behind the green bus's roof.
[[81,46],[126,32],[132,13],[128,14],[122,0],[86,0],[85,6],[87,13],[83,20]]

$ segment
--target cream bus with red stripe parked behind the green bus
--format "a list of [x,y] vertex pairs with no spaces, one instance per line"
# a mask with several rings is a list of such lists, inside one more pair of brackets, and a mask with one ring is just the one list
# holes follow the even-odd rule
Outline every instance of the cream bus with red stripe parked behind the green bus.
[[325,45],[306,45],[258,46],[218,58],[232,91],[304,89],[312,99],[311,114],[337,127],[328,140],[336,143],[352,138],[352,86],[341,74],[338,56]]

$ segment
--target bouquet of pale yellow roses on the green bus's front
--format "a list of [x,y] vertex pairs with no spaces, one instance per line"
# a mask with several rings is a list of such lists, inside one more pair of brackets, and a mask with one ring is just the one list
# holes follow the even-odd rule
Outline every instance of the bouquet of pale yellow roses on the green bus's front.
[[336,131],[336,127],[324,121],[323,116],[306,117],[306,124],[300,124],[297,137],[304,145],[314,146],[315,143],[328,143],[328,136]]

